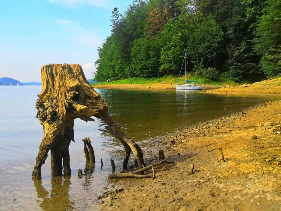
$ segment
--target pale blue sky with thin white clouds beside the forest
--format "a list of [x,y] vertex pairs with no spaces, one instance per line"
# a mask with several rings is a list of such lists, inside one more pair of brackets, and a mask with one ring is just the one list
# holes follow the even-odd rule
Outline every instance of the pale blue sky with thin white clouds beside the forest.
[[92,78],[114,7],[133,0],[10,0],[0,6],[0,78],[41,81],[41,67],[80,64]]

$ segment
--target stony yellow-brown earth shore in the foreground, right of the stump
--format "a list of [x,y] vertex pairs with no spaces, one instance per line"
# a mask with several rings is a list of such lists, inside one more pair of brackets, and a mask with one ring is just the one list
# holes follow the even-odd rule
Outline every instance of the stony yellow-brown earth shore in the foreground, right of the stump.
[[[143,151],[147,165],[159,161],[159,149],[174,164],[155,167],[154,180],[114,181],[123,191],[103,195],[102,208],[280,210],[280,124],[281,101],[275,101],[171,135]],[[208,152],[219,147],[226,162],[219,150]]]

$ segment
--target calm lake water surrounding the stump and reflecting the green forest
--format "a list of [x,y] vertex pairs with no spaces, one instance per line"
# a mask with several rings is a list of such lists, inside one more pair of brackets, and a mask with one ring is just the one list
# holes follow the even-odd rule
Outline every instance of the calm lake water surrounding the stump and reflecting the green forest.
[[[31,179],[43,136],[43,127],[35,118],[35,102],[41,88],[0,86],[0,210],[100,209],[95,199],[111,187],[108,180],[110,159],[115,160],[119,170],[125,154],[118,140],[98,131],[105,126],[98,119],[88,123],[75,120],[76,143],[72,142],[69,148],[72,176],[52,178],[48,157],[42,166],[42,180]],[[140,147],[153,144],[153,137],[240,112],[258,102],[278,99],[276,96],[240,97],[176,90],[96,91],[107,100],[114,121],[122,125],[126,136],[138,141]],[[82,141],[85,136],[91,137],[96,166],[85,166]],[[143,151],[146,155],[145,148]],[[100,168],[101,158],[103,168]],[[83,179],[78,179],[78,169],[86,174]]]

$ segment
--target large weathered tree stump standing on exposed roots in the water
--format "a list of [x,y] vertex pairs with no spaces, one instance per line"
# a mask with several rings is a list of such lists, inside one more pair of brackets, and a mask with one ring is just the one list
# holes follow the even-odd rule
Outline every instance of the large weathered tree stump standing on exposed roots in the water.
[[120,126],[108,116],[106,100],[86,80],[80,65],[44,65],[41,78],[42,91],[36,101],[36,117],[43,125],[44,136],[39,146],[33,178],[41,178],[41,166],[45,163],[49,150],[52,175],[60,175],[62,170],[65,175],[70,174],[68,147],[70,141],[74,141],[74,119],[94,121],[92,116],[108,124],[107,131],[120,139],[127,156],[133,151],[139,168],[142,168],[143,155],[139,146],[121,131],[115,130],[120,129]]

